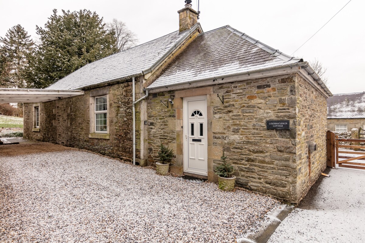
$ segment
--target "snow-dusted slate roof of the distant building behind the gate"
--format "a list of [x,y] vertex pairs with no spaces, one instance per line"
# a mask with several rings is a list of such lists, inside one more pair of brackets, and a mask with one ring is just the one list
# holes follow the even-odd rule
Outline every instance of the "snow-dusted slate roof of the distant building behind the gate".
[[334,94],[328,98],[327,118],[365,118],[365,92]]

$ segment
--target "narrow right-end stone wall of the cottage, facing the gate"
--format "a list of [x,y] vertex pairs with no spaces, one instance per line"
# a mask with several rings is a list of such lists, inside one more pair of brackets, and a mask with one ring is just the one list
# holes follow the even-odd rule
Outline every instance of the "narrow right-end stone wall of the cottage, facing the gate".
[[[323,95],[299,75],[296,76],[296,93],[296,192],[299,202],[326,168],[327,102]],[[317,150],[308,151],[308,142],[316,143]]]

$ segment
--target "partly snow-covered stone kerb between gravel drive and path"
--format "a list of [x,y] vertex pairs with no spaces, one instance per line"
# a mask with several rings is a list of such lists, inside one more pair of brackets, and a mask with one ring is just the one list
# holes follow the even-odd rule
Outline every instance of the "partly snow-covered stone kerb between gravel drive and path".
[[265,220],[262,223],[257,233],[249,233],[243,236],[243,238],[238,238],[237,243],[266,243],[276,228],[293,209],[294,206],[287,204],[280,204],[273,208],[267,215],[269,220]]

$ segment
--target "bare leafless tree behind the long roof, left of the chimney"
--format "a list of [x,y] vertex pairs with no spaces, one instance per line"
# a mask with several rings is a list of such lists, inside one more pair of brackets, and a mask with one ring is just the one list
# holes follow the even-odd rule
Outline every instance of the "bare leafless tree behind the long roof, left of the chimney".
[[105,27],[108,30],[114,30],[119,51],[134,47],[138,42],[137,35],[130,31],[123,21],[113,19],[111,22],[106,23]]

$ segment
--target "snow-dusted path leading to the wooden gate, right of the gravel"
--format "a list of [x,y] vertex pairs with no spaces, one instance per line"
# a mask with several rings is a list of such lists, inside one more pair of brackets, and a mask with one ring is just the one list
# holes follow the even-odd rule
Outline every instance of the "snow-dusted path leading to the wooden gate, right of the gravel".
[[365,242],[365,171],[324,173],[268,243]]

